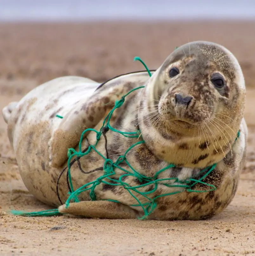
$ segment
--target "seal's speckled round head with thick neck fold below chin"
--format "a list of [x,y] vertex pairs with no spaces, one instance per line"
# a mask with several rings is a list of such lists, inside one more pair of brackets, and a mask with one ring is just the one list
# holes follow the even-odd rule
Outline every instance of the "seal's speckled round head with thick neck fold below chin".
[[177,48],[148,80],[138,113],[142,136],[160,159],[204,168],[231,150],[245,104],[233,54],[197,41]]

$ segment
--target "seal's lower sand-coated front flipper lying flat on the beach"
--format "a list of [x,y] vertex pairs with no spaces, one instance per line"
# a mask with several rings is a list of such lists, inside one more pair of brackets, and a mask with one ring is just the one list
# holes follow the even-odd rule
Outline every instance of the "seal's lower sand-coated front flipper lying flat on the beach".
[[61,213],[68,213],[86,218],[134,219],[138,212],[127,205],[110,201],[82,201],[63,204],[58,208]]

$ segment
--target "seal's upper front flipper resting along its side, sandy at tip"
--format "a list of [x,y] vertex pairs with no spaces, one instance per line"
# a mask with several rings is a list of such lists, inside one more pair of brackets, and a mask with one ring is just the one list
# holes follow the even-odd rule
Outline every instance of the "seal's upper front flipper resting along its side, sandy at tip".
[[85,97],[85,100],[77,102],[65,114],[49,142],[52,166],[60,167],[65,164],[68,149],[77,146],[82,132],[87,128],[95,128],[114,107],[116,100],[120,100],[135,87],[144,85],[147,80],[147,72],[123,75],[108,81],[89,97]]

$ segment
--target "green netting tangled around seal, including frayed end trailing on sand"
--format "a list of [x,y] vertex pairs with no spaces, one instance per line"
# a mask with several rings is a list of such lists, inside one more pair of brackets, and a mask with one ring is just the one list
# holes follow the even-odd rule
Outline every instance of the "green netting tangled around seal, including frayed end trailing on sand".
[[[134,60],[139,60],[145,66],[149,76],[151,76],[151,73],[148,70],[147,66],[144,64],[144,62],[139,57],[135,57]],[[142,140],[142,138],[141,138],[140,141],[137,141],[133,145],[131,145],[123,155],[121,155],[117,158],[117,160],[115,162],[108,158],[108,156],[107,156],[108,153],[106,153],[106,156],[103,156],[96,149],[96,146],[97,146],[99,140],[101,139],[101,135],[104,135],[104,137],[105,137],[105,134],[109,130],[111,130],[113,132],[117,132],[117,133],[119,133],[119,134],[121,134],[121,135],[123,135],[124,137],[127,137],[127,138],[138,138],[138,139],[140,138],[140,136],[141,136],[140,130],[137,129],[136,132],[119,131],[119,130],[113,128],[110,125],[110,120],[111,120],[113,112],[117,108],[119,108],[123,105],[123,103],[125,101],[125,98],[130,93],[134,92],[135,90],[142,89],[144,87],[145,86],[139,86],[137,88],[134,88],[131,91],[129,91],[128,93],[126,93],[125,95],[123,95],[120,100],[117,100],[114,104],[113,109],[104,118],[102,126],[101,126],[99,131],[97,131],[93,128],[85,129],[82,132],[81,137],[80,137],[80,141],[79,141],[79,144],[78,144],[78,151],[76,151],[73,148],[68,149],[68,154],[67,154],[68,155],[67,181],[69,183],[69,193],[68,193],[69,197],[68,197],[67,201],[65,202],[65,207],[66,208],[69,207],[69,204],[71,202],[80,202],[78,196],[82,192],[85,192],[85,191],[89,191],[89,197],[92,201],[97,200],[96,199],[96,193],[95,193],[96,187],[99,184],[108,184],[108,185],[111,185],[111,186],[121,186],[125,190],[127,190],[128,193],[137,202],[136,204],[131,204],[130,206],[131,207],[141,207],[141,209],[144,213],[143,216],[139,217],[138,219],[146,219],[157,207],[157,199],[159,197],[171,196],[171,195],[183,192],[183,191],[201,193],[201,192],[209,192],[209,191],[216,190],[216,187],[214,185],[203,182],[203,180],[205,179],[206,176],[208,176],[214,170],[217,163],[214,163],[212,166],[206,167],[205,169],[201,170],[199,172],[199,174],[197,175],[197,177],[201,176],[198,179],[195,179],[194,177],[190,177],[190,178],[187,178],[185,180],[179,180],[178,178],[175,178],[175,177],[160,179],[158,177],[160,175],[160,173],[164,172],[165,170],[168,170],[170,168],[175,167],[175,165],[170,163],[166,167],[157,171],[153,177],[149,177],[149,176],[142,175],[141,173],[139,173],[139,171],[135,170],[126,158],[128,152],[131,149],[133,149],[134,147],[136,147],[140,144],[145,143]],[[96,142],[95,142],[94,145],[89,145],[86,149],[84,149],[82,151],[82,141],[84,139],[85,134],[88,133],[88,132],[95,132]],[[238,139],[239,134],[240,134],[240,132],[238,132],[236,140]],[[105,143],[107,143],[106,142],[106,137],[105,137]],[[107,145],[105,146],[105,148],[107,150]],[[86,156],[91,152],[91,150],[94,150],[98,155],[100,155],[104,159],[103,174],[101,176],[99,176],[97,179],[95,179],[94,181],[86,183],[86,184],[82,185],[80,188],[74,190],[74,187],[73,187],[73,184],[72,184],[71,170],[70,170],[71,169],[71,160],[72,159],[77,160],[78,158],[81,158],[82,156]],[[125,168],[121,167],[120,166],[121,163],[125,163],[130,168],[130,170],[126,170]],[[119,178],[117,178],[117,179],[112,177],[116,174],[115,169],[123,171],[123,174],[120,175]],[[136,185],[136,186],[129,185],[127,182],[123,181],[127,177],[132,177],[132,178],[137,179],[141,183],[141,185]],[[204,186],[207,186],[208,189],[193,190],[192,187],[195,186],[198,183],[200,183]],[[149,185],[154,185],[154,187],[149,191],[141,191],[140,190],[140,189],[143,189],[144,187],[149,186]],[[159,185],[161,185],[161,186],[163,185],[163,186],[166,186],[168,188],[179,188],[179,190],[152,197],[152,194],[157,190]],[[150,195],[151,195],[151,197],[150,197]],[[147,201],[147,202],[142,203],[141,198],[143,199],[143,202],[144,201]],[[111,199],[111,198],[103,199],[103,200],[110,201],[110,202],[115,202],[115,203],[121,203],[120,201],[117,201],[117,200],[114,200],[114,199]],[[22,215],[22,216],[55,216],[55,215],[61,214],[61,213],[58,212],[58,209],[38,211],[38,212],[28,212],[28,213],[23,212],[23,211],[11,211],[11,213],[15,214],[15,215]]]

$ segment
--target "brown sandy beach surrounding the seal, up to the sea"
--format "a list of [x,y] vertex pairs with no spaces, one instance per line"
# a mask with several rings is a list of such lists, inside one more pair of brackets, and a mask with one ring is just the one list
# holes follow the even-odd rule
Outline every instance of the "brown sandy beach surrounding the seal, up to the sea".
[[[91,26],[95,28],[95,25]],[[116,37],[120,31],[125,31],[121,32],[122,37],[118,37],[118,45],[113,44],[113,36],[109,36],[114,27],[117,30]],[[157,67],[169,54],[170,48],[172,50],[175,46],[186,43],[188,37],[189,41],[196,40],[201,35],[205,40],[215,41],[217,38],[218,43],[236,55],[241,66],[243,65],[245,78],[246,74],[250,74],[250,70],[255,68],[251,33],[252,29],[255,29],[254,23],[194,26],[178,24],[174,35],[170,31],[173,31],[176,25],[162,24],[160,27],[155,24],[134,24],[132,30],[127,30],[128,27],[103,24],[98,25],[97,31],[93,32],[89,30],[89,25],[82,24],[28,27],[1,24],[0,34],[5,34],[5,39],[0,40],[0,55],[5,57],[3,62],[0,62],[0,108],[11,101],[19,100],[34,86],[61,75],[63,71],[84,76],[91,72],[93,78],[100,81],[122,72],[142,69],[140,64],[132,60],[136,55],[145,60],[150,68]],[[147,32],[144,32],[145,27]],[[233,27],[236,32],[231,38],[226,37],[227,31]],[[70,30],[73,38],[67,35],[66,29]],[[165,34],[166,30],[169,31],[169,40],[158,42],[155,38]],[[193,34],[195,30],[198,31],[197,34]],[[85,35],[81,31],[87,33],[87,41],[83,39]],[[88,33],[91,35],[90,40]],[[139,40],[133,37],[135,33],[139,33]],[[37,47],[40,48],[39,52]],[[252,73],[255,74],[255,71]],[[6,80],[8,76],[10,79],[10,74],[13,74],[12,80]],[[239,189],[232,203],[219,215],[210,220],[196,222],[26,218],[0,215],[0,255],[84,255],[85,252],[86,255],[92,256],[252,255],[255,248],[254,98],[255,90],[251,88],[250,82],[245,108],[249,129],[246,170],[241,175]],[[6,124],[2,118],[0,150],[0,214],[10,209],[48,209],[48,206],[29,195],[24,187],[16,162],[11,158],[13,154],[7,138]]]

